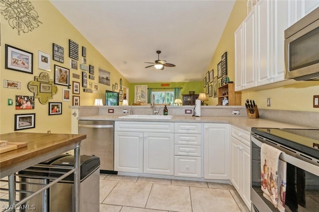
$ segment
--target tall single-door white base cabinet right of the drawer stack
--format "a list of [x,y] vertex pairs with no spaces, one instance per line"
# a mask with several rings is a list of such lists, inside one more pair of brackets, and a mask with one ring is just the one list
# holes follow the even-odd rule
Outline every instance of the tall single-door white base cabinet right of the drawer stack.
[[204,178],[229,180],[229,124],[204,123]]

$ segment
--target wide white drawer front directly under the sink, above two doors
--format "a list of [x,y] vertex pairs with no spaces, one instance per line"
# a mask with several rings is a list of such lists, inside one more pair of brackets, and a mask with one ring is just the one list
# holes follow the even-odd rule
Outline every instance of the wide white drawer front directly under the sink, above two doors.
[[124,132],[174,132],[173,122],[115,121],[114,131]]

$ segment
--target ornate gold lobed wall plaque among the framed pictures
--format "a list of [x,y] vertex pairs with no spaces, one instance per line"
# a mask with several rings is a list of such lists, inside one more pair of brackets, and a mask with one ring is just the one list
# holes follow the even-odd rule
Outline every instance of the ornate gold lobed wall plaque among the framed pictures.
[[50,80],[46,72],[42,72],[39,77],[35,76],[34,81],[28,83],[28,89],[43,105],[53,99],[52,96],[58,92],[58,87],[53,84],[53,80]]

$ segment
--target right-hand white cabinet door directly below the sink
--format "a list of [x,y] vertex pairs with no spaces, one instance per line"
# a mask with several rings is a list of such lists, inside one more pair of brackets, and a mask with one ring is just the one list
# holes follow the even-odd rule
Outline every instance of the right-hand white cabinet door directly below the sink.
[[144,133],[144,173],[174,175],[173,133]]

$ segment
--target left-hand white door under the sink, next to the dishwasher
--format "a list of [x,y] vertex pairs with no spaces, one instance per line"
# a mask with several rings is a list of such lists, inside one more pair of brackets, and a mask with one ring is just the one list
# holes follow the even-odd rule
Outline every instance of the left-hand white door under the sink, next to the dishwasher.
[[114,170],[143,173],[143,132],[114,132]]

